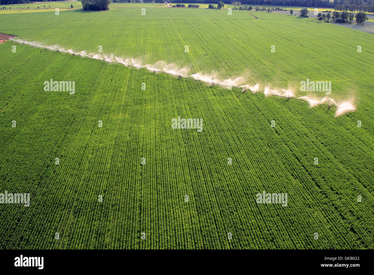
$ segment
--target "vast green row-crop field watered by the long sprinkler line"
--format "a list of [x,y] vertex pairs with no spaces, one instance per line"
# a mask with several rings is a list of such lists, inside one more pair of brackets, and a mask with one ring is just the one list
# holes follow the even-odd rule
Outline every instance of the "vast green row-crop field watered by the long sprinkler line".
[[[328,97],[356,111],[334,117],[335,107],[8,40],[0,193],[29,193],[30,205],[0,204],[0,248],[374,248],[372,34],[279,13],[76,4],[1,10],[0,32],[242,77],[260,92],[323,98],[300,82],[331,81]],[[74,81],[75,93],[45,91],[50,79]],[[202,131],[173,129],[178,116],[201,118]],[[258,203],[263,192],[287,194],[286,205]]]

